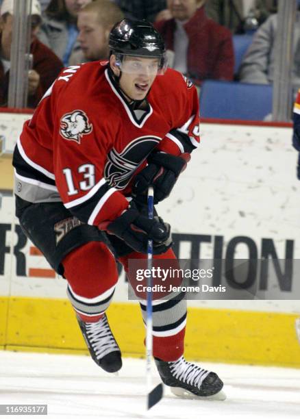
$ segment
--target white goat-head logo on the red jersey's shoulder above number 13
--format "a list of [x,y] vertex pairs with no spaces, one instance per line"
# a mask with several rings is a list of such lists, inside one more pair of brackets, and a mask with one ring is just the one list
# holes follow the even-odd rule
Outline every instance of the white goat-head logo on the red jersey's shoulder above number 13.
[[60,119],[60,135],[66,140],[80,144],[82,137],[92,132],[92,124],[82,110],[75,110],[64,114]]

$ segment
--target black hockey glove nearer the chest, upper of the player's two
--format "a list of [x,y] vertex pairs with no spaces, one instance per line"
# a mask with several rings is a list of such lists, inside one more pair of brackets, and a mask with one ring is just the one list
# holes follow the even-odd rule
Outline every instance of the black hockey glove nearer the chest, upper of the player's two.
[[154,189],[154,203],[165,199],[173,189],[177,178],[186,168],[186,160],[168,153],[154,152],[147,159],[148,165],[134,178],[132,196],[138,203],[146,203],[147,190]]

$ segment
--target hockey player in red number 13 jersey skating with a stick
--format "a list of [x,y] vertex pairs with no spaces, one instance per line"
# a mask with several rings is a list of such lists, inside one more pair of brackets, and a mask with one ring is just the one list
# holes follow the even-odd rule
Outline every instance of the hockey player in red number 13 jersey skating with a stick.
[[[68,281],[92,359],[115,372],[121,351],[105,315],[115,259],[128,272],[129,258],[147,258],[149,239],[154,258],[175,259],[169,225],[149,220],[143,204],[150,184],[155,203],[168,196],[198,146],[199,104],[190,81],[166,70],[151,24],[124,19],[109,45],[109,62],[62,71],[25,123],[13,164],[21,227]],[[166,385],[211,396],[221,379],[183,357],[183,297],[153,307],[153,356]]]

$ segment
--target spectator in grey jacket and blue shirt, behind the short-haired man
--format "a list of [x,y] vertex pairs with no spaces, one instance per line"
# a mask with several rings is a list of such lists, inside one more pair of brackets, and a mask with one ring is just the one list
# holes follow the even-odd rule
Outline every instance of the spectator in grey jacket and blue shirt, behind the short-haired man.
[[38,38],[58,55],[64,66],[68,66],[71,53],[79,49],[77,14],[90,1],[51,0],[45,10]]

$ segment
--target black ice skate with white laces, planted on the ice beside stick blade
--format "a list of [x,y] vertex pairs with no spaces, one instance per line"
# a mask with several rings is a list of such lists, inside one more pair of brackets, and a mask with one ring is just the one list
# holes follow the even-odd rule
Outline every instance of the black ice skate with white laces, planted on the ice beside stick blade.
[[205,398],[225,400],[222,392],[223,381],[215,372],[203,370],[180,357],[177,361],[166,362],[155,358],[155,364],[162,382],[171,388],[171,392],[183,398]]

